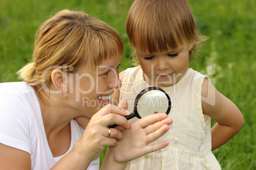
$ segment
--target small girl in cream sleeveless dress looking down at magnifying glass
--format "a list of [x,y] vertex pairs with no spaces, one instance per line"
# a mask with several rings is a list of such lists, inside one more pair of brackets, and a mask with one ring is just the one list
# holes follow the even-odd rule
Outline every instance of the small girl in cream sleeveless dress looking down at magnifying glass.
[[[243,127],[243,115],[219,93],[207,75],[188,68],[192,52],[206,38],[197,32],[185,0],[136,0],[126,23],[139,66],[120,73],[114,101],[133,110],[138,93],[149,86],[171,98],[170,130],[159,140],[170,145],[132,160],[127,169],[221,169],[211,150],[224,145]],[[211,118],[217,123],[211,128]]]

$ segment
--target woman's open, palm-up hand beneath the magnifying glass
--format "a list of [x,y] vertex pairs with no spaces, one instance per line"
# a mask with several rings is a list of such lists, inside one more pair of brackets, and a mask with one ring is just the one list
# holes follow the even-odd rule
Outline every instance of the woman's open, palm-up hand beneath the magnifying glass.
[[[106,160],[104,159],[103,162],[104,167],[107,167],[107,164],[111,166],[111,164],[115,163],[120,164],[121,167],[123,164],[124,167],[130,160],[166,147],[169,145],[169,141],[161,141],[152,145],[148,144],[166,133],[172,122],[173,120],[167,118],[166,114],[148,115],[143,119],[131,122],[130,128],[122,131],[124,137],[118,141],[117,146],[108,147],[105,156]],[[120,127],[117,128],[121,129]],[[113,130],[111,128],[111,132]]]

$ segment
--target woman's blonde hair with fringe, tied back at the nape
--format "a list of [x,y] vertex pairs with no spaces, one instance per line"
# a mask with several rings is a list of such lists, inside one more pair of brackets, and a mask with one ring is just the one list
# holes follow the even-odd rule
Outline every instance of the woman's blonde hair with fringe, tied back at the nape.
[[76,72],[90,58],[95,65],[122,55],[124,44],[103,21],[82,11],[62,10],[36,33],[32,62],[18,71],[20,79],[36,88],[50,89],[53,69]]

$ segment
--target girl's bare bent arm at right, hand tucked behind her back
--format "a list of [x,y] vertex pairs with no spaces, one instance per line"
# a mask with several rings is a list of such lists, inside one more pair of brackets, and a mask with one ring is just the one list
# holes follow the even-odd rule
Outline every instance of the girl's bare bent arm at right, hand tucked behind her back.
[[204,79],[202,87],[202,107],[203,113],[217,122],[211,128],[211,150],[224,145],[243,127],[244,119],[238,107],[207,79]]

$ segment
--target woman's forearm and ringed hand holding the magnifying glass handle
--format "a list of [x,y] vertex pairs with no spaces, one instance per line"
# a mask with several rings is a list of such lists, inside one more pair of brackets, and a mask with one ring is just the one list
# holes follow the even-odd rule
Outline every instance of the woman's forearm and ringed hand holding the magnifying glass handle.
[[118,124],[119,128],[129,128],[125,115],[128,113],[124,108],[118,108],[114,105],[107,105],[94,114],[87,124],[85,131],[76,141],[69,154],[55,164],[52,169],[87,169],[92,160],[96,160],[104,147],[117,146],[117,141],[122,140],[122,132],[118,129],[111,130],[111,136],[108,136],[108,125]]

